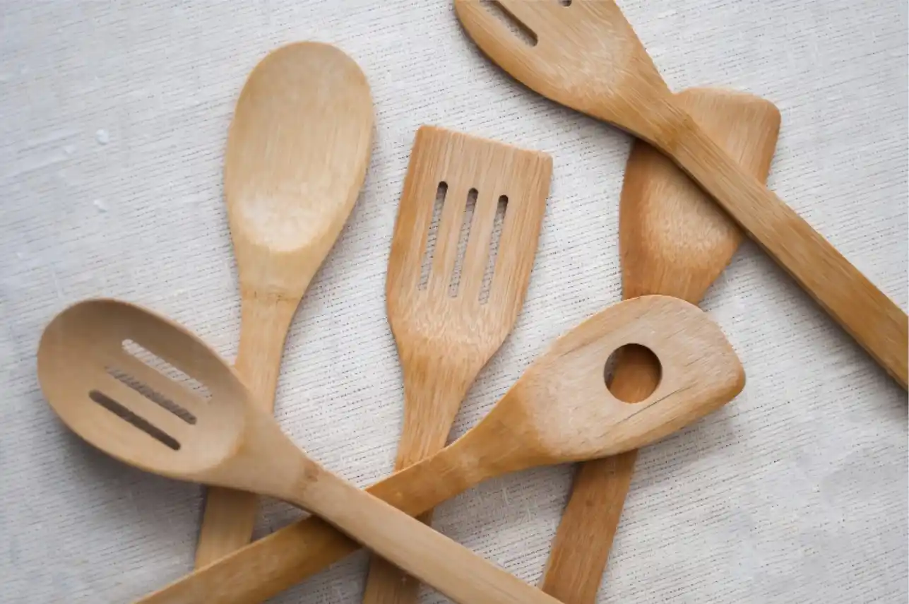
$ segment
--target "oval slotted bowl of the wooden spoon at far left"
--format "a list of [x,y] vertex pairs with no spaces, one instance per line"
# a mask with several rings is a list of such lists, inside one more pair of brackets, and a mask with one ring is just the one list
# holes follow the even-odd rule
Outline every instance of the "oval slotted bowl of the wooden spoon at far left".
[[[246,411],[231,368],[184,328],[162,330],[162,320],[109,299],[69,307],[41,337],[38,379],[56,414],[87,442],[104,443],[105,453],[131,466],[193,479],[238,446]],[[136,357],[131,342],[159,366],[181,367],[210,398]],[[124,421],[137,429],[125,430]]]

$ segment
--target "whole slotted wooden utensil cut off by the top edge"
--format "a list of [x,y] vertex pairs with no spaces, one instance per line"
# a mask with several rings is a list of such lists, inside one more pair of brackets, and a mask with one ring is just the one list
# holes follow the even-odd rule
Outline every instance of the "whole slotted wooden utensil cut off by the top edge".
[[[514,35],[504,19],[524,31]],[[643,138],[692,176],[903,388],[909,318],[674,99],[612,0],[454,0],[467,35],[525,86]]]

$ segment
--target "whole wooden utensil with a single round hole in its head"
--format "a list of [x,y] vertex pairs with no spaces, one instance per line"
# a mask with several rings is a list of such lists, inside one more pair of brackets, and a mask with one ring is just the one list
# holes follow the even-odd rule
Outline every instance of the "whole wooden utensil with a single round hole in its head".
[[[662,365],[659,386],[634,405],[604,383],[610,354],[628,343],[648,347]],[[738,358],[697,307],[662,296],[626,300],[555,340],[463,437],[367,490],[416,516],[487,478],[640,448],[721,407],[743,386]],[[261,602],[358,547],[306,518],[141,602]]]

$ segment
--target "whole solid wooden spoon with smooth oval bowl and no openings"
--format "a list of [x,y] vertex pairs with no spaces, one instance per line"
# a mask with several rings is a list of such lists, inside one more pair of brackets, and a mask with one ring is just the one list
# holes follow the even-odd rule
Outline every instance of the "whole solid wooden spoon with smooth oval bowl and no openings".
[[[356,63],[305,42],[265,56],[227,135],[225,199],[240,278],[236,370],[271,410],[296,307],[363,186],[373,103]],[[255,495],[211,488],[195,553],[202,567],[249,542]]]

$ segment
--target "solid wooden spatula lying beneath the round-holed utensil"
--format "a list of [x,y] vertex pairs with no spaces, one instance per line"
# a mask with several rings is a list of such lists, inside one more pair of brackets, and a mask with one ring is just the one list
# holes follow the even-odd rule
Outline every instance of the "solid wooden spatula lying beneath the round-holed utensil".
[[[780,113],[772,103],[711,88],[677,97],[729,156],[766,180],[780,129]],[[635,142],[619,206],[625,298],[665,294],[697,304],[741,241],[738,227],[681,170],[654,147]],[[618,398],[635,401],[650,394],[659,379],[660,368],[649,353],[627,347],[610,388]],[[546,593],[571,604],[595,604],[636,458],[633,450],[578,468],[549,553]]]

